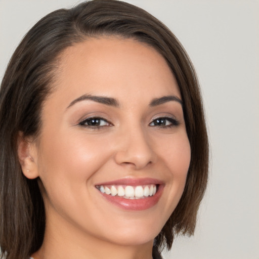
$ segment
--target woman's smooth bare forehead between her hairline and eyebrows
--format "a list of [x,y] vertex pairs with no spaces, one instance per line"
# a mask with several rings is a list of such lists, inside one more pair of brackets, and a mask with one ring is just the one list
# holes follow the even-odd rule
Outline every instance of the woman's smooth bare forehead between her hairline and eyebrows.
[[[67,102],[82,94],[130,97],[177,95],[180,91],[165,59],[134,39],[91,38],[67,48],[60,58],[56,91]],[[142,96],[143,98],[143,96]],[[151,98],[151,97],[150,97]]]

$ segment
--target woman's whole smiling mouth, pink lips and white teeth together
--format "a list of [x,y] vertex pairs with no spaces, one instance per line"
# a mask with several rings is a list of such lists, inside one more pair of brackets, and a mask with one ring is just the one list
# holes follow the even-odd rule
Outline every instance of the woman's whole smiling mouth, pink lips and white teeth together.
[[127,210],[153,207],[161,197],[164,184],[156,179],[122,179],[95,186],[110,203]]

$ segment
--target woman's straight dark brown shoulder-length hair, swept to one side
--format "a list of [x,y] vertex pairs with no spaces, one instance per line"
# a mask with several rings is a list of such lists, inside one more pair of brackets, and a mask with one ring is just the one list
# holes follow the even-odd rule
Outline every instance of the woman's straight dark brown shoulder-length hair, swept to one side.
[[18,132],[37,136],[41,105],[51,91],[62,51],[102,35],[134,38],[152,46],[177,79],[191,162],[182,198],[154,247],[161,250],[166,245],[169,249],[176,234],[194,233],[207,184],[208,139],[192,63],[176,36],[146,11],[120,1],[94,0],[57,10],[38,21],[22,39],[4,75],[0,90],[0,244],[7,259],[28,258],[41,246],[45,231],[45,208],[37,180],[25,178],[19,164]]

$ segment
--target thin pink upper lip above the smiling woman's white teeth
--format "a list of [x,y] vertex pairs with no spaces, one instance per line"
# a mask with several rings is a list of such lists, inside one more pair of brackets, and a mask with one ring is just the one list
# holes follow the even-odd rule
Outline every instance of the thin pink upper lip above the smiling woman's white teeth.
[[123,178],[123,179],[118,179],[110,182],[99,183],[99,184],[96,184],[96,186],[100,186],[100,185],[139,186],[139,185],[149,185],[149,184],[162,185],[164,184],[164,182],[154,178]]

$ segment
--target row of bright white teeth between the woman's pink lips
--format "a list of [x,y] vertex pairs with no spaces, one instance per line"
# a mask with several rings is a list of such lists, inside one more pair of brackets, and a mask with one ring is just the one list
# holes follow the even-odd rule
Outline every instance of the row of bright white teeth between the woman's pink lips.
[[144,185],[144,186],[96,186],[98,190],[100,190],[102,193],[106,193],[111,196],[120,196],[122,198],[128,198],[128,199],[138,199],[138,198],[145,198],[148,196],[153,196],[156,193],[156,185],[150,184],[150,185]]

